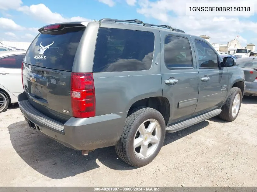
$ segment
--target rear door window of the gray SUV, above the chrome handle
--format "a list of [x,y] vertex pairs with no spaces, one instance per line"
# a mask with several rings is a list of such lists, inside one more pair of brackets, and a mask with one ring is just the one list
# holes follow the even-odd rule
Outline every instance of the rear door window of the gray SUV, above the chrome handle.
[[167,36],[164,45],[164,60],[168,68],[193,67],[188,40],[184,37]]

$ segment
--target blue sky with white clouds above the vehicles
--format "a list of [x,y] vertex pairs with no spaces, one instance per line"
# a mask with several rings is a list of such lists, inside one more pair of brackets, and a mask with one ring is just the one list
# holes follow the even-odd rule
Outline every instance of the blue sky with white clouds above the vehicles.
[[222,5],[224,0],[0,0],[0,41],[31,42],[40,27],[51,23],[112,18],[167,24],[210,36],[212,43],[227,44],[239,35],[241,46],[257,45],[257,0],[250,1],[254,16],[187,16],[186,3],[196,2]]

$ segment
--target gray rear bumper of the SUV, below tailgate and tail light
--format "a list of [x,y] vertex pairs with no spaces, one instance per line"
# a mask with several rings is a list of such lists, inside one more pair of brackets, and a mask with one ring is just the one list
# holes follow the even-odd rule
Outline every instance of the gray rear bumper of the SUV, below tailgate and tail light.
[[18,96],[25,120],[45,135],[75,150],[93,150],[115,145],[122,134],[127,112],[91,118],[71,117],[62,124],[36,110],[23,92]]

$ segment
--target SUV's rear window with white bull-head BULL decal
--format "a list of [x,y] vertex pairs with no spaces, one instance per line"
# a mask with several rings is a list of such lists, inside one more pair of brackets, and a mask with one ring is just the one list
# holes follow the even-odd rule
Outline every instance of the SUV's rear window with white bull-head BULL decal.
[[85,28],[42,32],[30,45],[24,62],[50,69],[71,71],[75,53]]

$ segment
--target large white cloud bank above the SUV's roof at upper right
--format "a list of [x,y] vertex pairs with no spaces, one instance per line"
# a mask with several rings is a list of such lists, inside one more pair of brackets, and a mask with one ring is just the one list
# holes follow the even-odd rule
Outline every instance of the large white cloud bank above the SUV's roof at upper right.
[[[222,3],[223,0],[157,0],[155,2],[149,0],[139,0],[140,8],[137,12],[159,20],[162,24],[168,24],[174,28],[182,29],[186,33],[192,35],[208,35],[211,37],[210,42],[226,44],[239,33],[251,31],[257,34],[257,23],[240,20],[238,17],[227,16],[186,16],[186,3]],[[227,0],[233,6],[236,3],[249,2],[239,0]],[[255,0],[257,2],[257,0]],[[257,4],[255,4],[255,12],[257,12]],[[171,15],[171,13],[173,13]],[[175,13],[176,16],[173,16]],[[239,37],[241,44],[247,42],[243,37]]]

